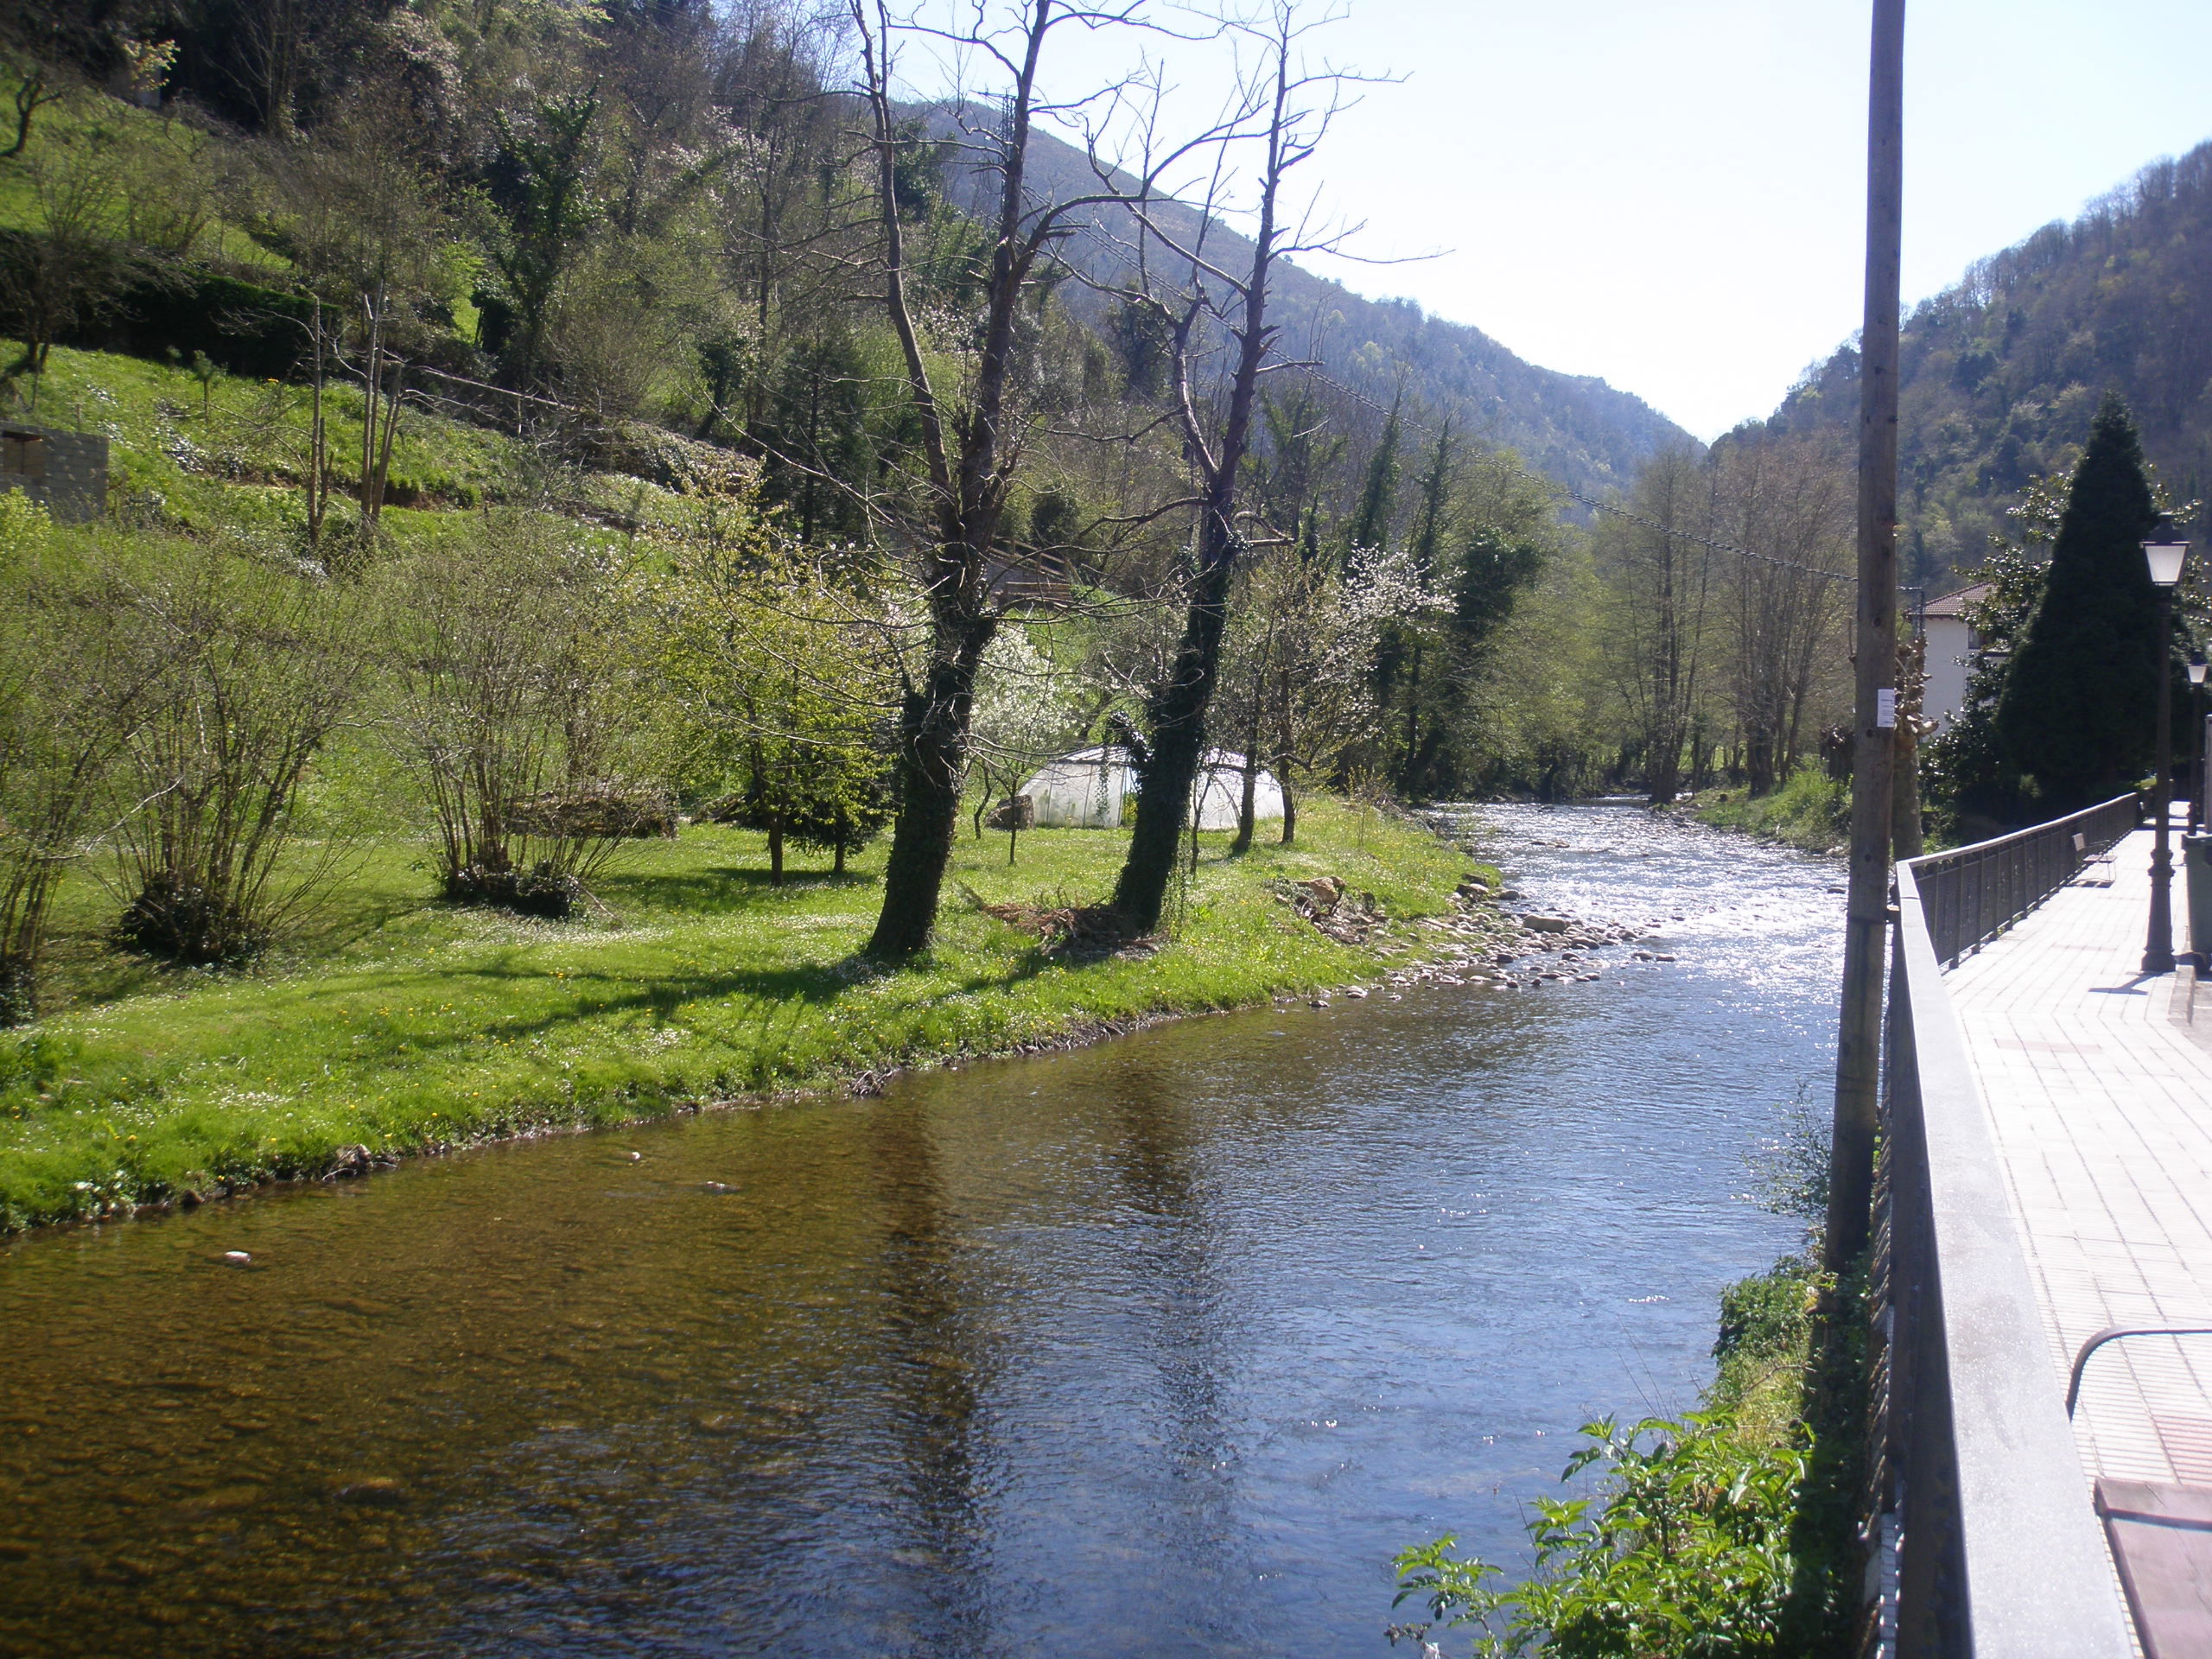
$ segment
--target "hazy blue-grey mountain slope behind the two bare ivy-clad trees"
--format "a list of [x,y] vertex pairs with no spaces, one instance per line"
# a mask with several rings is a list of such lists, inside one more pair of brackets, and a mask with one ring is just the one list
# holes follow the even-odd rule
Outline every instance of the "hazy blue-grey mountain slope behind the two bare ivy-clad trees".
[[[1095,188],[1082,150],[1042,133],[1031,142],[1029,184],[1037,195],[1062,199]],[[975,210],[982,188],[984,181],[971,175],[964,188],[953,184],[953,197]],[[1188,208],[1170,215],[1192,230],[1199,223]],[[1126,243],[1126,219],[1102,217],[1095,234],[1073,239],[1068,259],[1106,276]],[[1219,226],[1208,248],[1230,265],[1252,257],[1250,239]],[[1084,294],[1066,292],[1082,312]],[[1595,376],[1540,369],[1482,330],[1427,316],[1413,301],[1360,299],[1338,281],[1283,265],[1274,316],[1283,325],[1285,356],[1321,358],[1332,380],[1369,405],[1387,407],[1402,387],[1422,420],[1449,414],[1460,431],[1515,449],[1531,469],[1584,493],[1626,487],[1659,449],[1697,447],[1641,398]]]

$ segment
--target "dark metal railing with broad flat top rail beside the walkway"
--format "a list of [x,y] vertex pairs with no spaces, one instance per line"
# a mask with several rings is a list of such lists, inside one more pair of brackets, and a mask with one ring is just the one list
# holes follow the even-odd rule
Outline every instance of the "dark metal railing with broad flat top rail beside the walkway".
[[2135,796],[1898,865],[1869,1267],[1867,1652],[2126,1659],[2104,1531],[1942,964],[2064,887]]

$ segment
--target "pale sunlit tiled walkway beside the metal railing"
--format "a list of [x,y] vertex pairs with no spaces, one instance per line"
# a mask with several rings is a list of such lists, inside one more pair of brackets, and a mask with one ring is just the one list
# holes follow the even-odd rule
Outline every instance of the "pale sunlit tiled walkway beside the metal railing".
[[[2174,847],[2179,865],[2179,845]],[[1944,982],[1966,1033],[2057,1387],[2104,1325],[2212,1325],[2212,984],[2146,980],[2150,832],[2110,887],[2066,887]],[[2188,945],[2174,872],[2174,947]],[[2212,1486],[2212,1336],[2097,1352],[2075,1413],[2093,1475]]]

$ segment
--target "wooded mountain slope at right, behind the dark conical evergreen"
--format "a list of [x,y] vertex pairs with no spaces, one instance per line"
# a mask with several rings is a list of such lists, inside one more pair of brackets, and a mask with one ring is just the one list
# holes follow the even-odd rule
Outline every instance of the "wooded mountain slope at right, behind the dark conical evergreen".
[[[1907,319],[1907,582],[1978,564],[2020,489],[2075,462],[2106,387],[2135,409],[2177,504],[2212,489],[2212,144],[1980,261]],[[1845,345],[1767,425],[1856,422],[1858,349]]]

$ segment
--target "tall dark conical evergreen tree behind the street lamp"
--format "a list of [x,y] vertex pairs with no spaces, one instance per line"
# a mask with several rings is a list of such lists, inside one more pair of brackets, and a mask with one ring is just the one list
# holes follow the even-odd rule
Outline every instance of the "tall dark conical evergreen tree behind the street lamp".
[[2135,420],[2117,394],[2090,422],[2051,573],[1997,701],[1997,732],[2048,807],[2115,794],[2150,763],[2168,675],[2141,542],[2159,520]]

